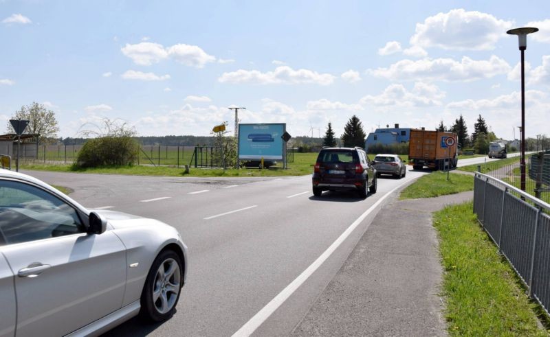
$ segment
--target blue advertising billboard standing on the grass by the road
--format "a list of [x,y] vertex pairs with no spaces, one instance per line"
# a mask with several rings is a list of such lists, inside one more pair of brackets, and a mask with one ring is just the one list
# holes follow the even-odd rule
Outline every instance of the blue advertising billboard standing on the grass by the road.
[[283,160],[286,124],[239,124],[239,160]]

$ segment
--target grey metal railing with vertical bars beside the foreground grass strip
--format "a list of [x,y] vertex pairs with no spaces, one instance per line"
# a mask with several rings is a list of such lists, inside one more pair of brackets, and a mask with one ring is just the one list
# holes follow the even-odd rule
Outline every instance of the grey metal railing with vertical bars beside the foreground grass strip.
[[487,174],[474,178],[474,213],[529,295],[550,308],[550,205]]

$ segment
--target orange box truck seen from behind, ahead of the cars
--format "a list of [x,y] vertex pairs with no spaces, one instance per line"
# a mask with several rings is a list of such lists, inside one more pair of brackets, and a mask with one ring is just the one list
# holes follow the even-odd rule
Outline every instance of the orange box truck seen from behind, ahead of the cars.
[[428,166],[432,170],[446,170],[458,163],[458,136],[454,132],[411,129],[408,162],[414,170]]

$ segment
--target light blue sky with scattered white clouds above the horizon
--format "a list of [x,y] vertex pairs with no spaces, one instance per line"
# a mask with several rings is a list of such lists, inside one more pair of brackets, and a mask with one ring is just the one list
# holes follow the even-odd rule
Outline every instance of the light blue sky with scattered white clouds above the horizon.
[[[21,106],[54,111],[59,137],[102,119],[139,136],[210,135],[224,121],[292,136],[434,129],[481,115],[519,139],[516,27],[527,137],[550,136],[550,1],[0,0],[0,129]],[[0,133],[7,132],[0,130]]]

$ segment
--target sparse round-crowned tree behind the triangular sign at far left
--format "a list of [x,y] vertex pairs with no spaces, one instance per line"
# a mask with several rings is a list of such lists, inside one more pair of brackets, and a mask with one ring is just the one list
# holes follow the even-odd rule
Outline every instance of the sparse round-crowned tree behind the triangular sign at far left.
[[[59,131],[56,114],[47,109],[43,104],[36,102],[32,102],[28,106],[21,106],[21,110],[16,111],[11,119],[25,119],[29,121],[25,134],[34,136],[36,154],[38,154],[38,145],[45,143],[47,139],[56,138]],[[8,132],[15,132],[10,121],[8,121]]]

